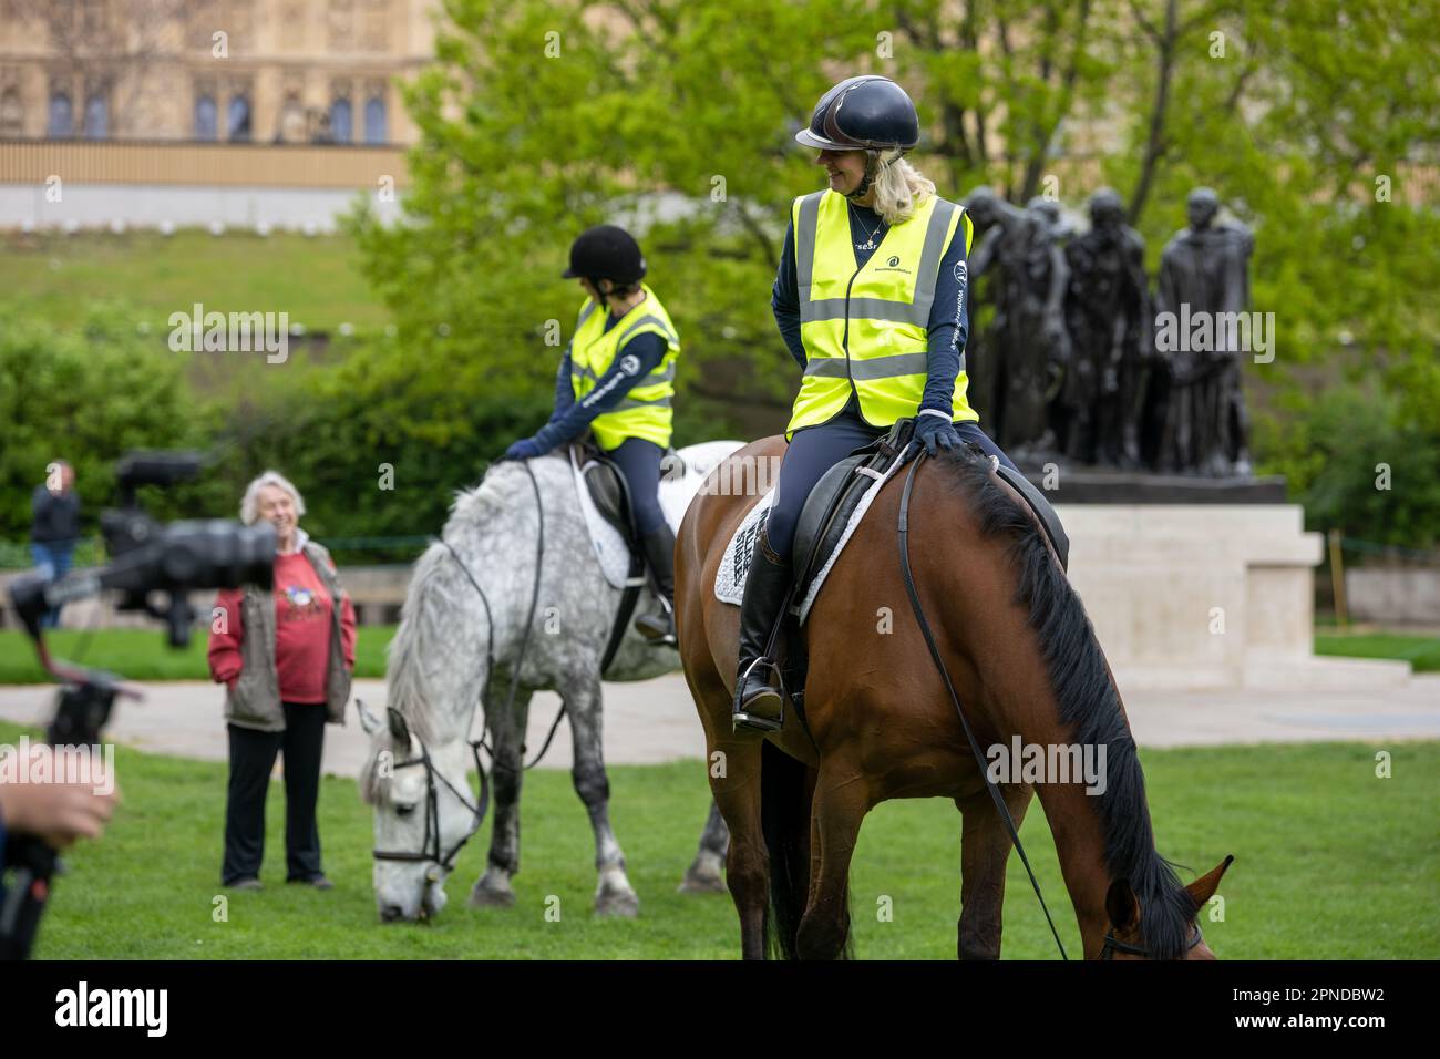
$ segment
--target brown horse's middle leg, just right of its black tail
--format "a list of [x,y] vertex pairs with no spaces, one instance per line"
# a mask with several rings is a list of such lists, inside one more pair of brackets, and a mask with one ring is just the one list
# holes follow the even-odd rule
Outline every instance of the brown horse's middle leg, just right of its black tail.
[[[857,782],[857,778],[861,779]],[[850,939],[850,859],[870,811],[858,764],[827,758],[815,782],[809,902],[795,948],[801,960],[837,960]],[[819,856],[814,844],[819,841]]]

